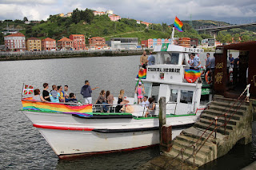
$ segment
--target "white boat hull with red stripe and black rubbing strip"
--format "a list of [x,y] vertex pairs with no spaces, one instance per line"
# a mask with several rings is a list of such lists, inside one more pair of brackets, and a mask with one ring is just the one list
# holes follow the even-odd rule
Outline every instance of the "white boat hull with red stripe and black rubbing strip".
[[[34,127],[41,132],[60,158],[133,150],[159,144],[158,118],[91,119],[64,113],[23,113],[33,122]],[[196,118],[167,118],[167,123],[173,125],[173,139],[184,128],[193,125]]]

